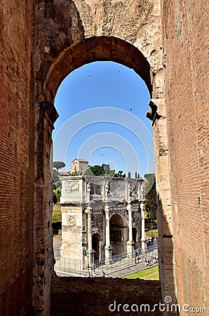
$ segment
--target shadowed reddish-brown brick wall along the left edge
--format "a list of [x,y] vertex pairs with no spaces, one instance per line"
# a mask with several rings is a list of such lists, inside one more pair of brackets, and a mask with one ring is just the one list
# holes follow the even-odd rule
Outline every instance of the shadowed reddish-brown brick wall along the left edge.
[[0,315],[32,315],[33,1],[0,1]]

